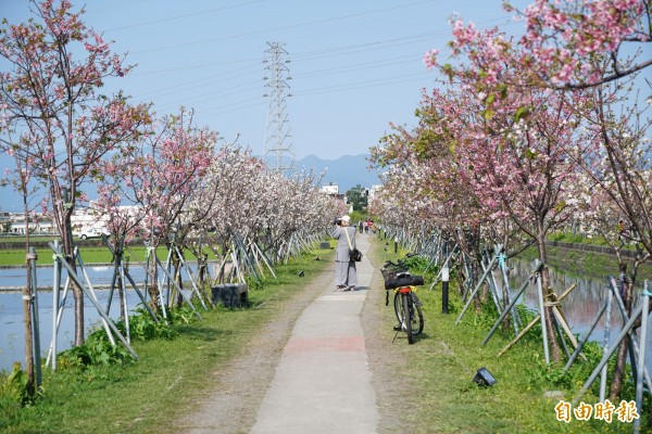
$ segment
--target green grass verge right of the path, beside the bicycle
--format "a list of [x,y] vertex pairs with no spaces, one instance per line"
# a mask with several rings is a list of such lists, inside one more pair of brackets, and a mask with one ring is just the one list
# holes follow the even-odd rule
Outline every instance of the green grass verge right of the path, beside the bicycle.
[[[388,254],[375,248],[377,266]],[[413,271],[417,273],[416,271]],[[427,276],[431,282],[432,276]],[[393,345],[405,358],[397,379],[410,379],[411,393],[399,406],[404,422],[413,433],[631,433],[632,424],[619,422],[614,414],[610,424],[602,420],[570,423],[556,420],[555,405],[560,398],[548,398],[546,392],[559,392],[570,403],[589,378],[600,353],[587,349],[590,362],[576,362],[568,374],[561,375],[559,367],[549,367],[543,359],[541,329],[535,327],[526,337],[501,357],[498,354],[513,339],[513,330],[496,333],[481,346],[497,316],[488,306],[482,312],[472,307],[455,324],[463,303],[454,282],[450,284],[449,314],[441,314],[441,284],[429,290],[429,283],[417,294],[425,316],[424,333],[414,345],[402,339]],[[396,322],[390,307],[385,308],[385,339],[393,339]],[[526,321],[527,322],[527,321]],[[590,352],[593,353],[590,353]],[[565,360],[564,360],[565,362]],[[491,387],[478,387],[472,380],[479,368],[487,368],[498,380]],[[562,366],[563,367],[563,366]],[[581,397],[587,404],[599,399],[589,391]],[[631,394],[631,388],[628,390]],[[634,399],[634,395],[631,395]],[[619,403],[615,403],[618,407]],[[650,401],[645,404],[650,408]],[[640,410],[639,410],[640,412]],[[647,411],[643,412],[647,419]],[[647,421],[641,433],[650,433]]]

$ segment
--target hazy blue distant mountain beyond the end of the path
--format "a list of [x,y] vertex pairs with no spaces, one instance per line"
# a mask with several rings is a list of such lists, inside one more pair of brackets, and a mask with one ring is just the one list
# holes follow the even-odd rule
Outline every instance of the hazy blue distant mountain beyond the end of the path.
[[380,183],[378,173],[367,167],[369,165],[367,158],[368,154],[344,155],[337,159],[322,159],[315,155],[309,155],[294,163],[299,170],[312,168],[319,174],[325,169],[326,174],[322,179],[322,186],[333,182],[334,186],[338,186],[340,193],[343,193],[358,184],[371,188]]

